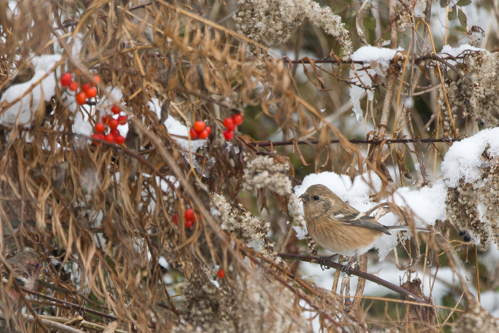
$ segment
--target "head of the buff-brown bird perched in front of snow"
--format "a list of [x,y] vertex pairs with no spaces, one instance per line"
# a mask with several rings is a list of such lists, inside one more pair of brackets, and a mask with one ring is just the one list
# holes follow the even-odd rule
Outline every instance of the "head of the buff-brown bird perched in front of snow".
[[316,218],[329,211],[337,200],[341,199],[324,185],[312,185],[308,187],[298,198],[303,202],[305,219]]

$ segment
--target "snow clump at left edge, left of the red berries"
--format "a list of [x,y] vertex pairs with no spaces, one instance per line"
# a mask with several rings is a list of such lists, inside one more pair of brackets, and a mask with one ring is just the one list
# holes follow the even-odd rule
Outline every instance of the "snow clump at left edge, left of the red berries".
[[[29,93],[5,110],[5,112],[0,116],[0,123],[2,125],[9,127],[14,126],[17,118],[19,125],[29,124],[33,120],[33,115],[38,109],[38,105],[43,101],[49,102],[52,100],[52,96],[55,95],[57,79],[55,77],[55,73],[50,73],[50,70],[58,61],[60,61],[60,59],[60,54],[44,54],[41,56],[35,56],[31,60],[31,63],[34,65],[34,75],[31,80],[14,84],[6,89],[1,96],[0,103],[8,104],[14,101],[22,96],[26,91],[30,90],[31,87],[45,74],[49,74],[41,80],[40,84],[34,86]],[[42,93],[43,101],[41,97]]]

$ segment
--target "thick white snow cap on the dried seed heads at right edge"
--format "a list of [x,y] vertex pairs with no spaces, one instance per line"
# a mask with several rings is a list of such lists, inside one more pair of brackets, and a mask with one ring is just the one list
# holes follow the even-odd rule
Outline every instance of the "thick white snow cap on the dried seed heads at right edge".
[[448,187],[457,187],[460,179],[467,183],[478,181],[482,170],[480,155],[486,148],[491,157],[499,156],[499,127],[484,129],[472,137],[453,143],[445,154],[441,170]]

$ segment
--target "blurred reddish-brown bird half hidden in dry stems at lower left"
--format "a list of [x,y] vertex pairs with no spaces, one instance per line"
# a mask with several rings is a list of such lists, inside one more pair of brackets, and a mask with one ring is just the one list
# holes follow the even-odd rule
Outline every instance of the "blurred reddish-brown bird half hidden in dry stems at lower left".
[[[42,259],[33,251],[23,251],[12,258],[7,259],[7,263],[12,269],[12,274],[19,287],[29,290],[36,288],[36,281],[40,275]],[[5,269],[2,271],[2,282],[8,282],[9,273]],[[8,292],[12,299],[17,298],[17,292],[10,290]]]

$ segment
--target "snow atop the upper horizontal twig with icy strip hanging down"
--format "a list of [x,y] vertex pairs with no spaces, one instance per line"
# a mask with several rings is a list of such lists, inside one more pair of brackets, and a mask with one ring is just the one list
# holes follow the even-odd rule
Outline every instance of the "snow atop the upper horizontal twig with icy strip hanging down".
[[[369,75],[374,76],[378,74],[381,76],[386,76],[386,71],[390,65],[390,60],[393,59],[397,51],[401,51],[403,48],[391,49],[391,48],[378,48],[371,45],[365,45],[356,50],[350,58],[354,61],[363,61],[364,66],[371,66],[371,69],[363,70],[362,65],[354,64],[354,69],[350,69],[350,77],[354,77],[351,80],[352,83],[356,83],[360,86],[366,88],[372,87],[371,78]],[[363,122],[362,119],[362,108],[360,107],[360,99],[364,91],[367,91],[367,97],[372,100],[374,97],[373,90],[364,89],[358,85],[350,86],[350,99],[353,103],[353,111],[359,123]]]

